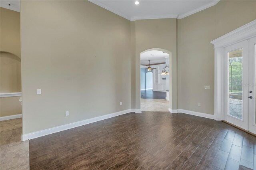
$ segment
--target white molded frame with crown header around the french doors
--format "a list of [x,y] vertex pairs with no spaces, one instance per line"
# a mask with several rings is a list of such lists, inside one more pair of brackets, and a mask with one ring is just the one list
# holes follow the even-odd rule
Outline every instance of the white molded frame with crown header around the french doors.
[[214,45],[214,117],[217,121],[224,120],[225,114],[224,47],[253,37],[256,37],[256,20],[211,42]]

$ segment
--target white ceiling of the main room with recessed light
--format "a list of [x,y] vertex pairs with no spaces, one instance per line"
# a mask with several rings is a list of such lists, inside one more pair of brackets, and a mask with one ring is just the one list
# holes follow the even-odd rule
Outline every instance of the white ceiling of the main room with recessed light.
[[89,0],[128,20],[184,18],[211,6],[219,0]]

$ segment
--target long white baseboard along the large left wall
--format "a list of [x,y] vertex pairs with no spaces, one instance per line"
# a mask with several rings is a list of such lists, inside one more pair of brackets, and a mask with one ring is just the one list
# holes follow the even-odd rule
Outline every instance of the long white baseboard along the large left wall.
[[116,117],[116,116],[119,116],[119,115],[124,115],[126,113],[131,113],[134,110],[135,109],[127,109],[127,110],[124,110],[124,111],[119,111],[119,112],[111,113],[111,114],[108,114],[108,115],[103,115],[103,116],[94,117],[94,118],[91,118],[91,119],[86,119],[86,120],[83,120],[83,121],[69,123],[69,124],[66,124],[66,125],[58,126],[58,127],[48,128],[48,129],[45,129],[45,130],[40,130],[40,131],[37,131],[37,132],[28,133],[28,134],[22,134],[21,140],[25,141],[25,140],[29,140],[29,139],[38,138],[38,137],[41,137],[41,136],[45,136],[45,135],[48,135],[48,134],[60,132],[60,131],[67,130],[67,129],[70,129],[70,128],[75,128],[75,127],[79,127],[79,126],[86,125],[86,124],[89,124],[89,123],[102,121],[104,119],[109,119],[111,117]]

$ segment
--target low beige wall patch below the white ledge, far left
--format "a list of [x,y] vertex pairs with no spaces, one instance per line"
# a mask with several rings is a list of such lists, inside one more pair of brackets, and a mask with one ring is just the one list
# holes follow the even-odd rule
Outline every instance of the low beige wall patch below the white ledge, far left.
[[0,117],[21,114],[20,96],[0,98]]

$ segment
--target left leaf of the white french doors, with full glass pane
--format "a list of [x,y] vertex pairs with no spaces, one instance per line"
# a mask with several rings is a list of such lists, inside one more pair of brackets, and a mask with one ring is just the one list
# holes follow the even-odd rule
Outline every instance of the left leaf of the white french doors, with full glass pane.
[[248,40],[224,48],[225,121],[248,130],[249,57]]

